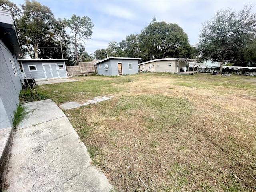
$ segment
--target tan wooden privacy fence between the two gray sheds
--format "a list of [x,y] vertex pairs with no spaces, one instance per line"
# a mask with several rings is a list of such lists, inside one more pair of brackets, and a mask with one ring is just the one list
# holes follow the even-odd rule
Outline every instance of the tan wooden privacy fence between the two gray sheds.
[[79,66],[66,66],[68,75],[76,76],[76,75],[90,75],[94,72],[97,72],[96,66],[94,66],[94,62],[79,62]]

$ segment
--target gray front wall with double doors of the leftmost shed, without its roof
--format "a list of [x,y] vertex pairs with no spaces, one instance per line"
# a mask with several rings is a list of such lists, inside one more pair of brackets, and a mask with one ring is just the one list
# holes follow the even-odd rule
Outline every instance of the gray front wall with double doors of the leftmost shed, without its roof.
[[[26,78],[45,80],[46,78],[65,78],[67,76],[66,65],[63,61],[20,61]],[[59,69],[63,66],[63,69]],[[36,70],[30,70],[29,66],[36,66]],[[52,73],[50,72],[50,67]]]

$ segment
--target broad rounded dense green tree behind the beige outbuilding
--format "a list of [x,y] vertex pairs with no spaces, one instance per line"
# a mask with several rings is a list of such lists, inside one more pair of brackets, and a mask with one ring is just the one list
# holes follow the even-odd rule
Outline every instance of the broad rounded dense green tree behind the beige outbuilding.
[[140,49],[146,56],[143,60],[151,58],[168,58],[191,54],[188,36],[178,24],[152,22],[142,30],[139,36]]

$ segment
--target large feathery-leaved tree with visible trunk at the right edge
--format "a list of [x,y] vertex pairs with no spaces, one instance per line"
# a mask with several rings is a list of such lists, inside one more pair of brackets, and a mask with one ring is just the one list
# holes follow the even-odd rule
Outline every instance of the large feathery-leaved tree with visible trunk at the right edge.
[[252,8],[246,4],[239,12],[221,9],[202,26],[198,47],[203,58],[221,61],[220,73],[224,60],[241,60],[240,53],[256,36],[256,14]]

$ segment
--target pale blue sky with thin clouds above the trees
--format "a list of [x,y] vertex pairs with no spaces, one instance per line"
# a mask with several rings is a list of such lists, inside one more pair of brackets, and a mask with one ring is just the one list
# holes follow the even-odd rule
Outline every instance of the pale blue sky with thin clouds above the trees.
[[[10,0],[16,5],[24,0]],[[140,34],[152,18],[157,21],[176,23],[188,35],[193,46],[198,42],[202,23],[211,20],[220,9],[241,10],[245,4],[254,5],[256,0],[37,0],[52,10],[55,18],[70,19],[88,16],[94,27],[92,36],[84,44],[88,54],[106,49],[108,42],[121,42],[130,34]],[[68,29],[66,29],[69,31]]]

